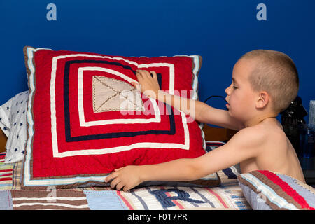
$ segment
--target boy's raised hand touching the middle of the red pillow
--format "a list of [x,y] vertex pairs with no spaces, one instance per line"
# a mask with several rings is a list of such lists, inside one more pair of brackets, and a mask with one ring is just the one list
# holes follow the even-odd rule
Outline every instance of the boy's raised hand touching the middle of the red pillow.
[[[151,73],[153,77],[151,76]],[[136,76],[139,84],[132,82],[131,84],[139,91],[143,92],[147,97],[158,98],[158,91],[160,85],[158,83],[158,76],[155,71],[137,70]]]

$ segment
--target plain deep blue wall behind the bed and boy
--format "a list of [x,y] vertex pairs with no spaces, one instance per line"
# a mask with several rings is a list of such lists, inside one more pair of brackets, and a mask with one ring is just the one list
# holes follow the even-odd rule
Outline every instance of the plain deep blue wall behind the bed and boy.
[[[57,6],[56,21],[46,18],[48,3]],[[258,3],[267,6],[267,21],[256,19]],[[315,99],[314,9],[314,0],[1,0],[0,104],[27,90],[25,45],[106,55],[202,55],[202,101],[225,96],[237,59],[262,48],[295,61],[298,94],[309,111]],[[221,99],[209,104],[225,108]]]

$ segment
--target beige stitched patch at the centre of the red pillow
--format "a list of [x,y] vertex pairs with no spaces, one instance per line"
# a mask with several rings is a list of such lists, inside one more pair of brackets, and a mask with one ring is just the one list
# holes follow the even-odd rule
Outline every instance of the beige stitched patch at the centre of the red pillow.
[[144,111],[141,94],[123,81],[93,76],[93,111]]

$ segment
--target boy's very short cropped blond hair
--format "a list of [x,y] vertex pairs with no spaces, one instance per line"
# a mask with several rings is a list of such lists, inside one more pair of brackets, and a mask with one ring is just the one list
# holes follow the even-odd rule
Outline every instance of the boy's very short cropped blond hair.
[[249,82],[254,91],[266,91],[272,98],[272,109],[280,113],[293,102],[299,90],[299,77],[293,60],[275,50],[252,50],[240,59],[256,59]]

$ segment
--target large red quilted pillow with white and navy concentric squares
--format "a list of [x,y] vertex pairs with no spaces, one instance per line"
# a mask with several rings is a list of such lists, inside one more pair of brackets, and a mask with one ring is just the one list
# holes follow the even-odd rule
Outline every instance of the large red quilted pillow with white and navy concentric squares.
[[[199,124],[130,84],[156,71],[161,90],[197,99],[200,56],[118,57],[25,47],[29,78],[23,188],[104,182],[126,165],[205,153]],[[179,92],[177,91],[179,90]]]

